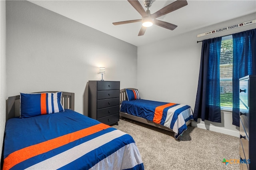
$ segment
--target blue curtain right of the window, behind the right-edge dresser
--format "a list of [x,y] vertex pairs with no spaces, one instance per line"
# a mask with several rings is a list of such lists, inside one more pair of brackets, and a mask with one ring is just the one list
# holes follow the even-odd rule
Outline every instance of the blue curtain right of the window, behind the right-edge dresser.
[[256,29],[233,34],[233,125],[239,127],[239,78],[256,74]]

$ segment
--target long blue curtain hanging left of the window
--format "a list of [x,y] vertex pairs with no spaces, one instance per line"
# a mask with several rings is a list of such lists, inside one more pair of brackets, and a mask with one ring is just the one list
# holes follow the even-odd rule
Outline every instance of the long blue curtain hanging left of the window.
[[220,117],[220,46],[221,37],[202,42],[200,72],[194,120],[221,122]]

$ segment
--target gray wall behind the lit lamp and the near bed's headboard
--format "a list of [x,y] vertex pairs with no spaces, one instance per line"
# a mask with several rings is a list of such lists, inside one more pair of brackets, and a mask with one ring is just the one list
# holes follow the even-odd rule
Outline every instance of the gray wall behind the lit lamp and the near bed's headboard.
[[[7,96],[20,92],[75,93],[87,115],[88,81],[137,86],[137,47],[28,1],[6,1]],[[123,63],[123,64],[122,64]]]

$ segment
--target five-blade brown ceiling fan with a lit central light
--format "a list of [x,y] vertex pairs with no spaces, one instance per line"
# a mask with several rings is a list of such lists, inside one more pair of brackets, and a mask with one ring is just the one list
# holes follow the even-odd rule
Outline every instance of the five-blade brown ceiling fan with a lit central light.
[[[138,36],[143,36],[146,31],[146,28],[152,26],[153,24],[169,30],[174,30],[177,27],[176,25],[157,20],[156,18],[188,5],[188,2],[186,0],[176,0],[171,4],[165,6],[164,8],[158,10],[154,14],[150,14],[150,10],[145,11],[138,0],[128,0],[128,2],[135,8],[135,10],[137,10],[140,13],[142,19],[113,22],[113,24],[120,25],[129,24],[133,22],[142,22],[142,27],[140,28]],[[152,0],[145,0],[144,5],[148,9],[152,5]]]

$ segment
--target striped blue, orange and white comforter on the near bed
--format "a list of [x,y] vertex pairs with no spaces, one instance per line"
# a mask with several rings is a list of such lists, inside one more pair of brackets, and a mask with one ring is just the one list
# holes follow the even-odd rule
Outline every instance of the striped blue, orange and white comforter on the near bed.
[[4,170],[144,169],[129,134],[75,111],[6,122]]

